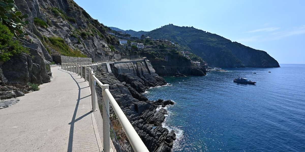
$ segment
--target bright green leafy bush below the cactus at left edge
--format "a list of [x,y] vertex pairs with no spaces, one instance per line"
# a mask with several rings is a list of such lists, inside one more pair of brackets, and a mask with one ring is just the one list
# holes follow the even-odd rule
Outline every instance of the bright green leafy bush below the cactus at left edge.
[[30,54],[29,50],[23,47],[19,41],[13,40],[13,36],[9,28],[0,23],[0,60],[7,61],[20,53]]

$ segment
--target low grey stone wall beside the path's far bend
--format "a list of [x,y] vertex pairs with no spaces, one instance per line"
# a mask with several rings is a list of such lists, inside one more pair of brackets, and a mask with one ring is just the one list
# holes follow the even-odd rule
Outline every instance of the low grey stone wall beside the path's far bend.
[[89,57],[67,57],[67,56],[52,56],[55,63],[81,63],[81,62],[92,62]]

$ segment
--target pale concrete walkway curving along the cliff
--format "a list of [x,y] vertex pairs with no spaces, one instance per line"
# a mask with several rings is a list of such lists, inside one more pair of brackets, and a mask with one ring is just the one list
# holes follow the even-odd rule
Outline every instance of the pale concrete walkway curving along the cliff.
[[88,82],[51,67],[51,82],[0,109],[0,152],[102,151]]

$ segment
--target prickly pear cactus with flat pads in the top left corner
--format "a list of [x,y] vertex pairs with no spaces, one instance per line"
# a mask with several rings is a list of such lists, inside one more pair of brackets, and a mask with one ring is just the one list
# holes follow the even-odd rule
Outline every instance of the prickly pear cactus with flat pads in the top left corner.
[[27,14],[22,15],[13,0],[0,0],[0,22],[7,26],[15,37],[23,38],[28,35],[22,30],[29,23],[25,20],[27,17]]

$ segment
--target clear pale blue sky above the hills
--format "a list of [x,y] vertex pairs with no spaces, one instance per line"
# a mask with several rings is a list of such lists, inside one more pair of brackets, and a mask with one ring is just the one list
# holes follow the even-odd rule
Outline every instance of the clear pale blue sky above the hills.
[[92,18],[123,30],[193,26],[264,50],[280,64],[305,64],[305,1],[74,0]]

